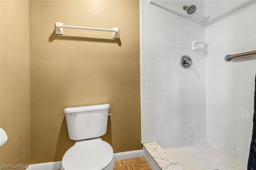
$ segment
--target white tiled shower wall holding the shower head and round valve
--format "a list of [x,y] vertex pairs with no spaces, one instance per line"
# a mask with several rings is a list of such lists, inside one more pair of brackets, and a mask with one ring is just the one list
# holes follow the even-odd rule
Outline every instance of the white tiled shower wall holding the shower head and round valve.
[[[186,14],[184,5],[196,5]],[[140,0],[142,143],[163,148],[206,143],[204,1]],[[189,55],[191,68],[180,66]]]

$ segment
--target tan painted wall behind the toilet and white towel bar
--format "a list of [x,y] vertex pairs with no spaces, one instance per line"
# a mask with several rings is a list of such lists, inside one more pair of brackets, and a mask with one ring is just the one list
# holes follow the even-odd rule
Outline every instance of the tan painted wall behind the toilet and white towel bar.
[[[110,104],[102,137],[114,152],[140,144],[140,37],[138,0],[29,1],[30,163],[62,160],[68,138],[66,107]],[[64,29],[55,22],[112,33]]]

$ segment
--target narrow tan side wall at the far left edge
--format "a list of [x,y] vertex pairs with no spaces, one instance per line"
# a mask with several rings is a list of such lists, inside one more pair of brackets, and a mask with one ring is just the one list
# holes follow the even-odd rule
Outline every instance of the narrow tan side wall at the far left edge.
[[1,116],[8,141],[0,164],[29,164],[29,34],[28,1],[1,3]]

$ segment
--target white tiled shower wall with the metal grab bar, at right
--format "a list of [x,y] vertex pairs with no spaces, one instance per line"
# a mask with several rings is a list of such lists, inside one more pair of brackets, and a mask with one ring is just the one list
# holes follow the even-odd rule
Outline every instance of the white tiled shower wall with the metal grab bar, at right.
[[256,1],[205,1],[205,18],[207,143],[246,162],[256,57],[224,57],[256,50]]

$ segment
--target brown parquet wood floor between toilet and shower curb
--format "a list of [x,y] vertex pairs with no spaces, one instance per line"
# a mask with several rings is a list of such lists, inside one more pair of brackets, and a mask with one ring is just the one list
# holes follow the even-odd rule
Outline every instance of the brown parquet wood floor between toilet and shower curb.
[[114,164],[114,170],[152,170],[146,161],[142,157],[131,158],[125,160],[117,160]]

